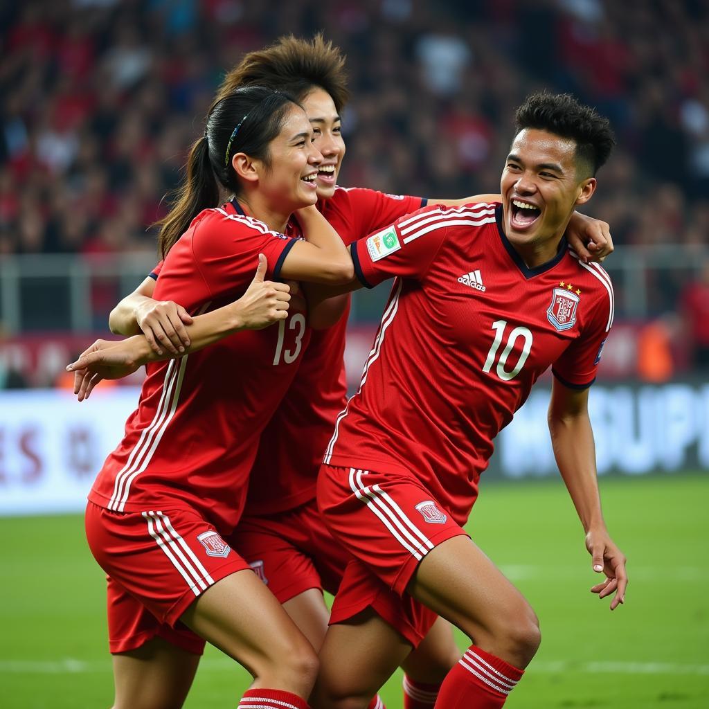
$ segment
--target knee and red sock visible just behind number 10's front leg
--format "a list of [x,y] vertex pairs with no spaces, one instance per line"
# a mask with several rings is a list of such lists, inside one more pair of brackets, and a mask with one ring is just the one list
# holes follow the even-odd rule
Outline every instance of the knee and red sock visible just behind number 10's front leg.
[[450,669],[460,659],[452,626],[437,618],[418,647],[401,664],[404,671],[403,709],[430,709]]

